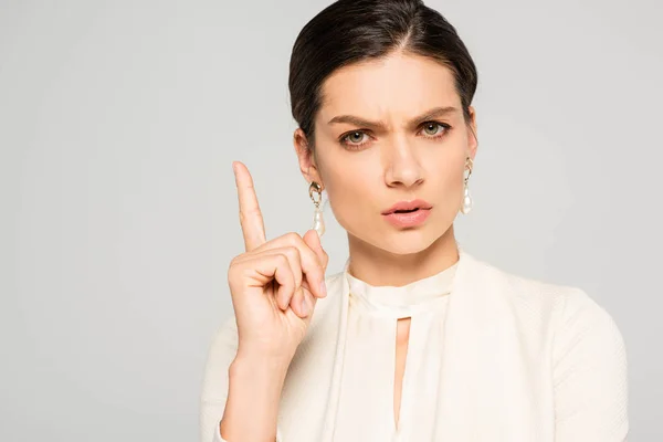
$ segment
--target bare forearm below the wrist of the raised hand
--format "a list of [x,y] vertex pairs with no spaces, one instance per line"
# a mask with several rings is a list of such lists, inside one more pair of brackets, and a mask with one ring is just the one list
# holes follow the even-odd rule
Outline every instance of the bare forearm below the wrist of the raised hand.
[[238,357],[229,369],[221,436],[229,442],[272,442],[287,365]]

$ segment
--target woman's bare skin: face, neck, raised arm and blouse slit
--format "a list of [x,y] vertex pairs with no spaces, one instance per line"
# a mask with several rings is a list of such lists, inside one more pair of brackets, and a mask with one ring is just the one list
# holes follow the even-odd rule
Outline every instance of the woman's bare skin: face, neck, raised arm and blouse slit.
[[[453,221],[462,202],[465,160],[474,159],[477,140],[474,108],[470,106],[466,120],[452,72],[439,62],[399,51],[337,70],[324,82],[322,95],[315,139],[308,140],[297,129],[294,146],[302,175],[307,182],[323,186],[335,218],[348,232],[349,272],[371,285],[401,286],[453,265],[459,260]],[[287,365],[311,320],[298,303],[306,298],[314,307],[315,301],[325,296],[315,287],[328,260],[314,231],[298,240],[286,234],[265,242],[251,176],[238,165],[242,230],[249,243],[248,255],[238,257],[241,270],[235,265],[229,272],[233,307],[242,318],[242,324],[238,319],[241,351],[230,370],[221,433],[229,441],[234,434],[242,434],[243,441],[265,441],[274,440]],[[417,198],[432,204],[429,218],[419,227],[396,228],[381,214],[398,201]],[[294,283],[275,294],[270,288],[269,281],[274,278],[270,269],[284,244],[292,248],[291,255],[301,257],[281,259],[290,269],[282,272],[281,280]],[[304,290],[294,290],[298,281]],[[260,299],[259,294],[277,301],[244,302],[250,295]],[[261,320],[253,318],[256,306],[262,307]],[[273,313],[267,314],[269,307]],[[272,320],[265,323],[265,318]],[[411,318],[403,318],[397,324],[397,427],[410,323]],[[274,333],[280,343],[269,338]],[[264,425],[255,430],[256,422]]]

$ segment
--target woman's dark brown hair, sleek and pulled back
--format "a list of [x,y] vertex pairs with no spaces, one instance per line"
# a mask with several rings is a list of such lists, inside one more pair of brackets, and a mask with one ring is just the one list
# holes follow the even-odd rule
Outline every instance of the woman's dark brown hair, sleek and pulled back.
[[456,30],[421,0],[338,0],[302,29],[290,61],[293,117],[314,147],[322,85],[337,69],[396,50],[431,57],[455,80],[465,122],[476,91],[476,66]]

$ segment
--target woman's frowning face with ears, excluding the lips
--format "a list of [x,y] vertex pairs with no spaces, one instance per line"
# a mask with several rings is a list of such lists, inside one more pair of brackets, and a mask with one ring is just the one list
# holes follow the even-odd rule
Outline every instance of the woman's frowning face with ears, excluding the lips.
[[[451,71],[394,53],[337,70],[322,97],[315,158],[306,155],[301,129],[295,146],[302,171],[323,185],[343,228],[394,254],[422,251],[440,239],[462,203],[465,159],[476,151]],[[382,214],[414,199],[432,206],[415,227],[394,225]]]

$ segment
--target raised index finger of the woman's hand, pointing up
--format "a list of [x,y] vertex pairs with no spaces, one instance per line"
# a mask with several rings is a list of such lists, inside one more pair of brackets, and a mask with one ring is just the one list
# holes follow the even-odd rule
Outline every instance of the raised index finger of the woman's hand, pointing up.
[[233,161],[232,169],[240,200],[240,224],[244,234],[244,246],[249,252],[265,243],[265,225],[249,169],[240,161]]

